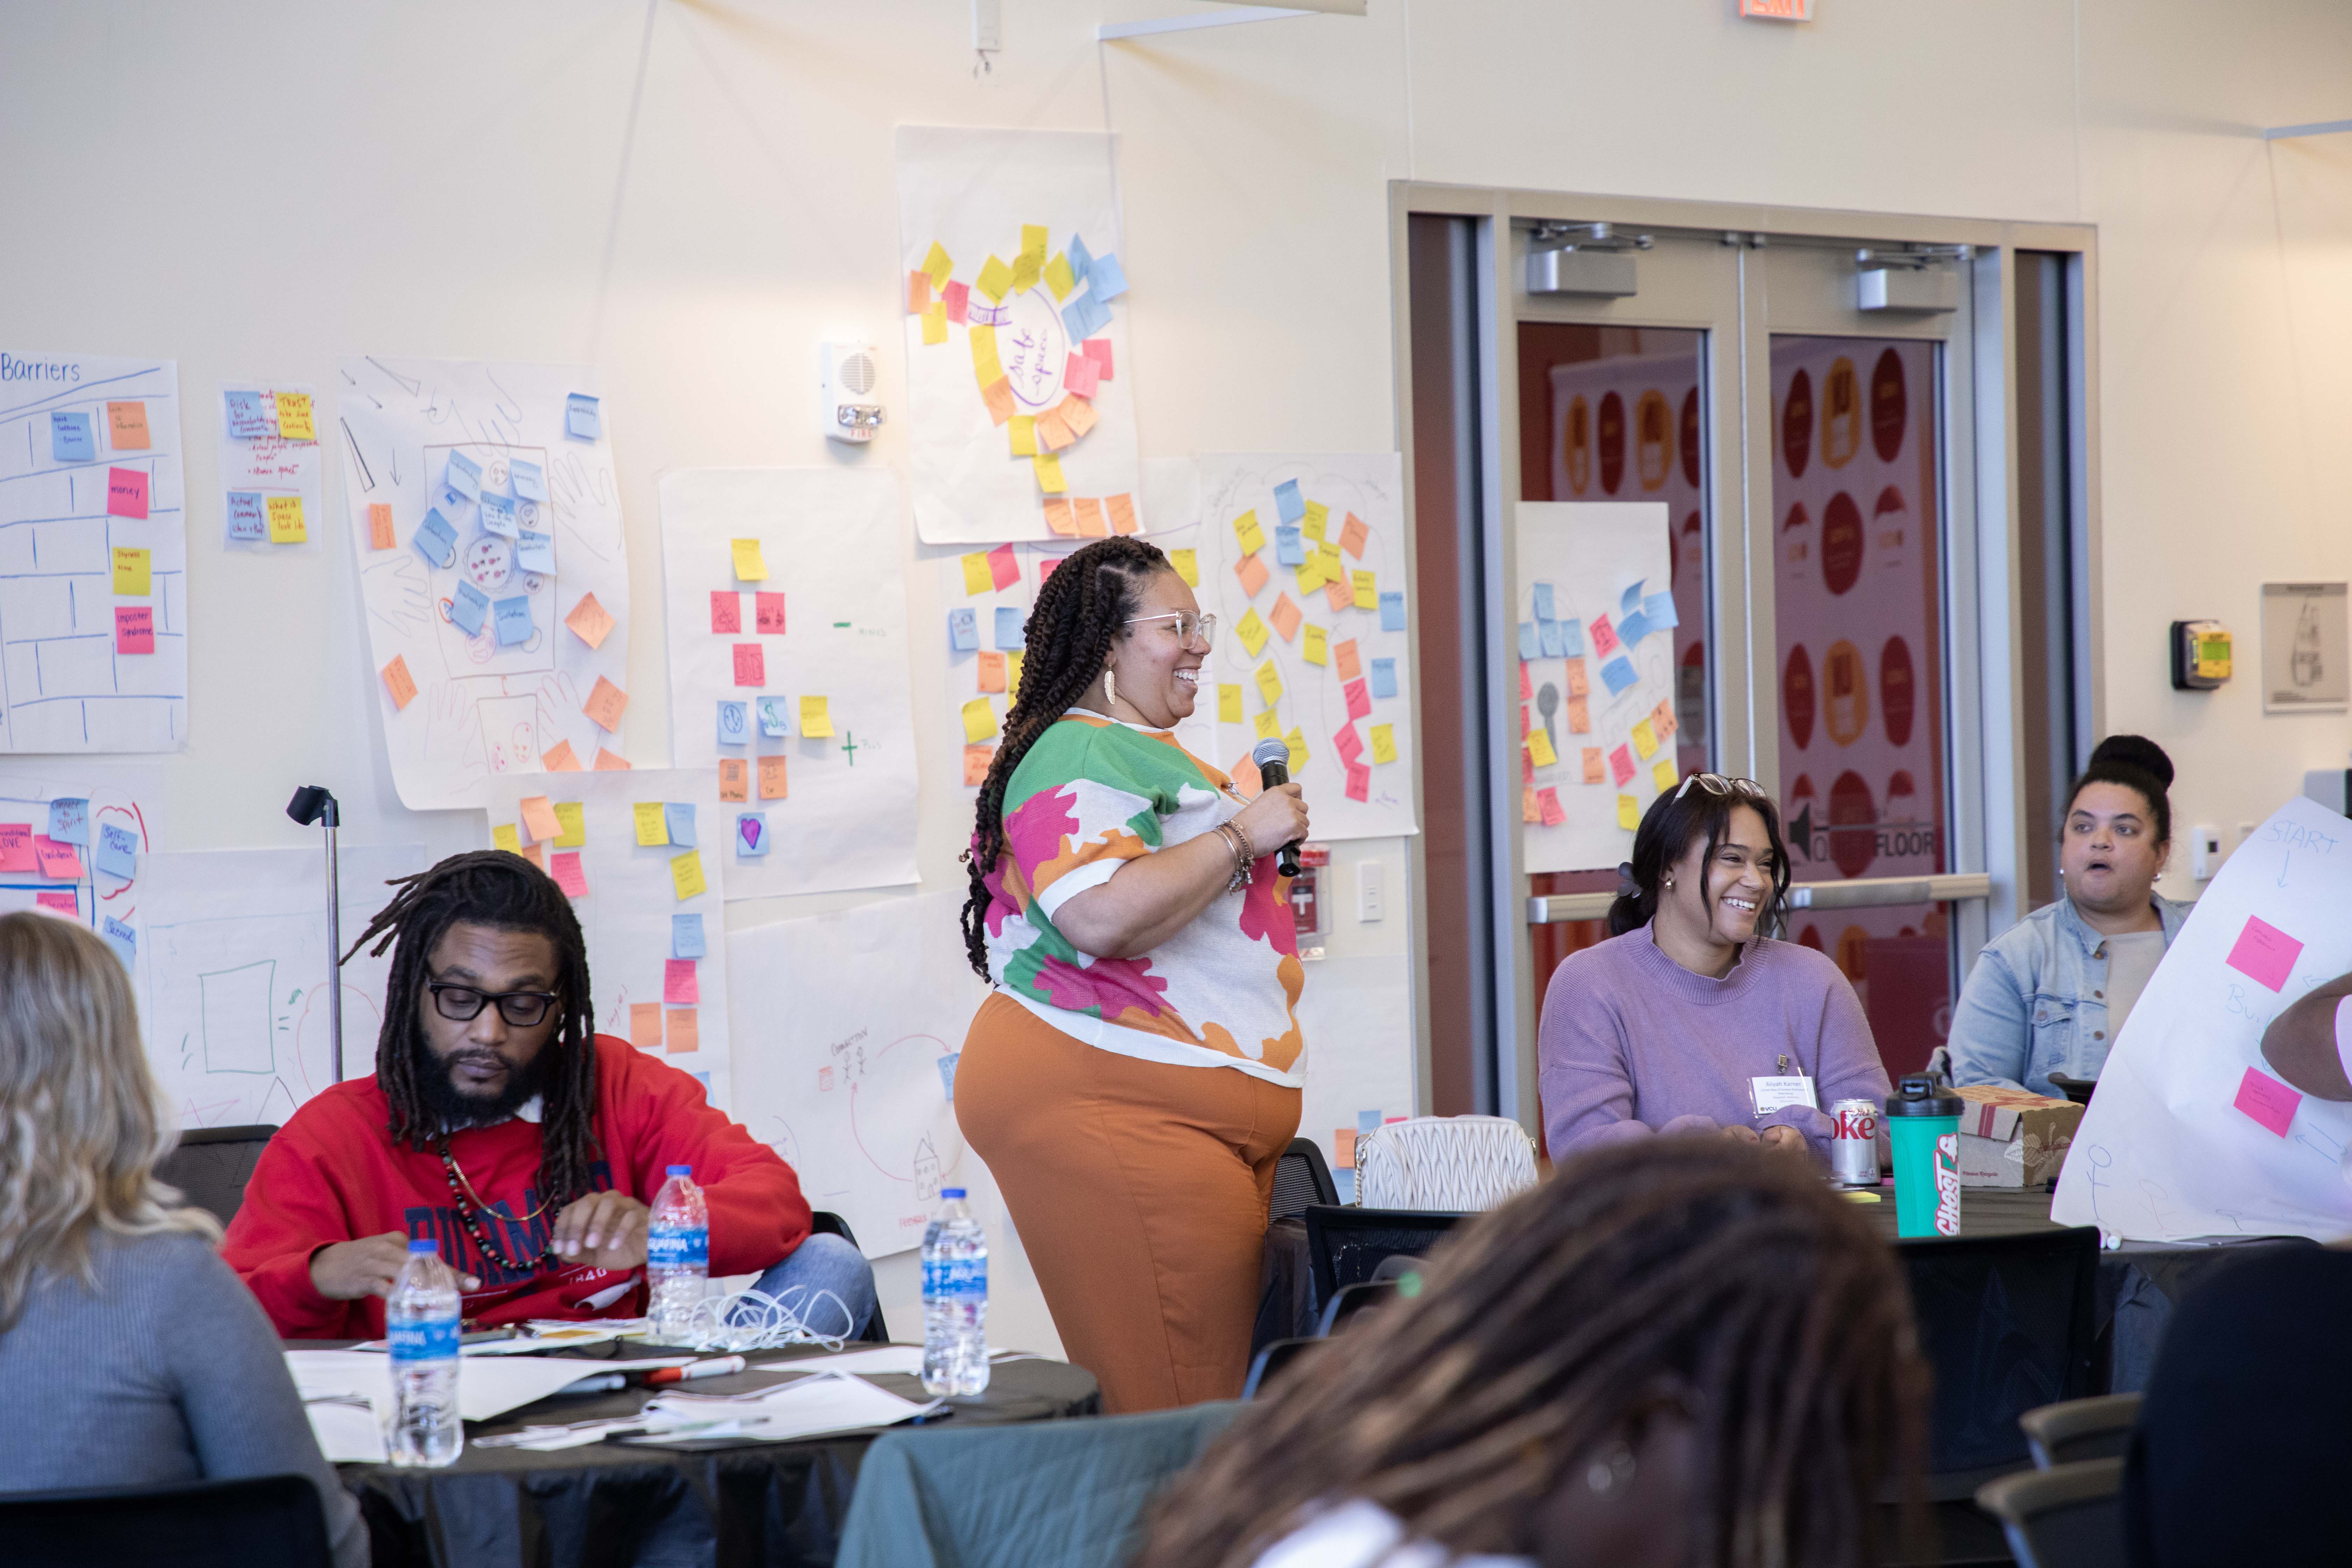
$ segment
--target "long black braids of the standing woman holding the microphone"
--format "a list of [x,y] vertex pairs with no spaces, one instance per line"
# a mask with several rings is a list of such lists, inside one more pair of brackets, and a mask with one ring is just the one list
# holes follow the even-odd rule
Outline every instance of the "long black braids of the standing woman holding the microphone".
[[1174,571],[1160,545],[1141,538],[1098,538],[1073,550],[1037,588],[1037,609],[1023,628],[1021,689],[1004,715],[1004,741],[988,764],[971,820],[971,896],[964,900],[964,952],[988,978],[988,872],[1004,851],[1004,785],[1049,724],[1070,710],[1110,663],[1110,644],[1127,632],[1127,616],[1143,599],[1155,571]]

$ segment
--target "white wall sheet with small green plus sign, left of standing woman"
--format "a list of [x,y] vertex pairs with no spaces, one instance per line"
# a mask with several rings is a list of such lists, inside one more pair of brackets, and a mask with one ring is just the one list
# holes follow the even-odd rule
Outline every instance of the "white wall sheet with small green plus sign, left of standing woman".
[[[906,658],[898,482],[889,470],[689,468],[661,480],[661,581],[670,656],[670,755],[682,769],[743,762],[710,842],[727,898],[898,886],[915,870],[915,698]],[[734,576],[731,541],[760,541],[764,581]],[[710,595],[734,595],[739,632],[710,630]],[[781,592],[783,635],[757,632],[757,595]],[[736,682],[736,649],[762,679]],[[781,698],[786,736],[760,733]],[[802,698],[826,698],[830,736],[802,733]],[[720,745],[720,703],[746,703],[750,736]],[[760,797],[760,757],[786,759],[786,797]],[[767,853],[743,853],[739,816],[764,818]]]

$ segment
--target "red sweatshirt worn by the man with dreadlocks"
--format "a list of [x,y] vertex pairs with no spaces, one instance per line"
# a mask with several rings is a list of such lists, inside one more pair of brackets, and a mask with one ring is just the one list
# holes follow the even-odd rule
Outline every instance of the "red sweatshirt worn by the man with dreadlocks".
[[[595,1187],[652,1204],[668,1166],[694,1166],[710,1204],[713,1276],[755,1274],[807,1241],[809,1201],[800,1197],[793,1166],[715,1110],[701,1081],[626,1039],[597,1034],[595,1098]],[[466,1295],[468,1319],[520,1324],[644,1309],[642,1276],[536,1262],[555,1227],[555,1213],[532,1213],[539,1206],[532,1180],[539,1173],[536,1121],[517,1117],[449,1138],[449,1157],[489,1204],[475,1225],[522,1262],[508,1272],[480,1253],[459,1220],[440,1152],[395,1145],[383,1131],[390,1114],[374,1079],[339,1084],[294,1112],[254,1164],[221,1258],[261,1298],[282,1338],[383,1338],[383,1298],[327,1300],[310,1286],[310,1255],[332,1241],[388,1229],[433,1237],[445,1262],[482,1281]],[[630,1288],[619,1300],[588,1305],[623,1284]]]

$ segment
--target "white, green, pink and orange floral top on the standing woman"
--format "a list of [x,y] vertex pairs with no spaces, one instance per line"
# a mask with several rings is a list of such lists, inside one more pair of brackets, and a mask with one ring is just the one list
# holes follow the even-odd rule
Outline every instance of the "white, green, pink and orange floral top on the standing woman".
[[1167,731],[1082,710],[1047,726],[1004,788],[1004,853],[988,877],[990,978],[1103,1051],[1305,1084],[1305,971],[1272,844],[1261,844],[1249,886],[1141,957],[1098,959],[1054,929],[1061,905],[1129,860],[1214,832],[1242,806],[1232,780]]

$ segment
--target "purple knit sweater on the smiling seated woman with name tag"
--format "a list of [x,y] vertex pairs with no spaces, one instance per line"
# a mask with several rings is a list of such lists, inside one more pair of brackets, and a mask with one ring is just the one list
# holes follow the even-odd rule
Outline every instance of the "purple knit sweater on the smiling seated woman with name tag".
[[[1748,1079],[1813,1079],[1823,1110],[1757,1117]],[[1649,926],[1571,952],[1552,971],[1536,1034],[1552,1159],[1651,1133],[1757,1131],[1785,1121],[1830,1157],[1832,1103],[1886,1098],[1870,1020],[1837,964],[1795,943],[1752,940],[1722,980],[1658,952]]]

